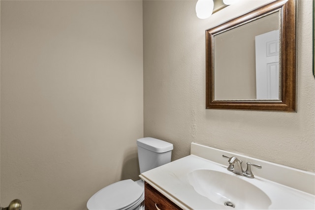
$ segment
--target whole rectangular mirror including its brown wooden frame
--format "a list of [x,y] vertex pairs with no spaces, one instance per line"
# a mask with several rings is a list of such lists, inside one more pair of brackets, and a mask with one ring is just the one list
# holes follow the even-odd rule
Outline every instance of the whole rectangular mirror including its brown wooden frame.
[[296,111],[296,0],[206,30],[206,108]]

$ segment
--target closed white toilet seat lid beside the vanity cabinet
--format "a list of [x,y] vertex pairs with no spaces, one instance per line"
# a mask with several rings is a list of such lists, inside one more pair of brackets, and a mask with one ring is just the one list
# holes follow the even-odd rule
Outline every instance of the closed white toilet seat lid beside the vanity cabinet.
[[88,201],[89,210],[126,210],[144,197],[144,188],[133,180],[122,180],[96,192]]

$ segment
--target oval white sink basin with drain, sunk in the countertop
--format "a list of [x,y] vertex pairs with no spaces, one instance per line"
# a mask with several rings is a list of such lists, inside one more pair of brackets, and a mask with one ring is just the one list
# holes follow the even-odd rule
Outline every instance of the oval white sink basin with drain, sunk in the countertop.
[[189,184],[194,190],[222,205],[222,209],[268,209],[270,198],[261,189],[235,174],[197,169],[188,173]]

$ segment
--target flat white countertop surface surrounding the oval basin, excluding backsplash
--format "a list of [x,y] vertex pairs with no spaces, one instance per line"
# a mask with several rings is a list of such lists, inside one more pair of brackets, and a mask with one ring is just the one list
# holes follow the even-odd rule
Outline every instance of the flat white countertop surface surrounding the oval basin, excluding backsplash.
[[[227,165],[191,154],[144,172],[140,175],[140,178],[155,187],[182,209],[231,209],[231,207],[212,202],[194,190],[193,186],[189,184],[187,175],[197,169],[210,169],[230,173],[233,176],[238,176],[240,179],[251,182],[270,197],[272,204],[269,206],[269,209],[315,209],[315,196],[313,194],[257,176],[254,179],[249,179],[235,175],[226,170]],[[263,169],[264,167],[261,170]],[[310,175],[308,174],[308,176]]]

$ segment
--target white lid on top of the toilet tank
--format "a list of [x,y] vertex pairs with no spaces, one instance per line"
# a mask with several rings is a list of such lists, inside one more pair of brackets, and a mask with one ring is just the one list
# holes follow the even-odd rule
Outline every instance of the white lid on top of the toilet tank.
[[151,150],[158,153],[173,150],[173,145],[171,143],[168,143],[159,139],[151,138],[151,137],[138,139],[137,145],[146,150]]

